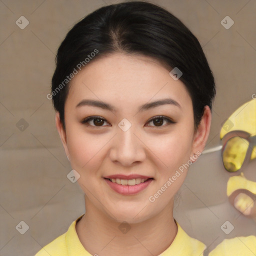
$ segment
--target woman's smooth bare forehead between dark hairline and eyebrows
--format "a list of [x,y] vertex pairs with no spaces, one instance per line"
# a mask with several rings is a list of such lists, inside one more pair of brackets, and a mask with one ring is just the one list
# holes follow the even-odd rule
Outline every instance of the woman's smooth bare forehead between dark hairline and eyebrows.
[[81,69],[71,80],[66,102],[77,104],[92,98],[130,106],[131,102],[171,97],[180,105],[191,103],[184,84],[169,75],[158,60],[144,55],[113,53],[101,56]]

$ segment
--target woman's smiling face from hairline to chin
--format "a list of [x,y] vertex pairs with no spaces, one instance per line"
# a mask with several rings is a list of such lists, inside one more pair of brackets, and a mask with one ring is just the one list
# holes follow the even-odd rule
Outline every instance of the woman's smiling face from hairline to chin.
[[[57,128],[80,175],[85,202],[118,221],[142,221],[170,205],[198,149],[191,98],[169,71],[146,56],[114,53],[91,61],[72,78],[64,107],[66,130]],[[164,99],[168,103],[153,104]],[[128,185],[104,178],[115,174],[152,179],[125,189]]]

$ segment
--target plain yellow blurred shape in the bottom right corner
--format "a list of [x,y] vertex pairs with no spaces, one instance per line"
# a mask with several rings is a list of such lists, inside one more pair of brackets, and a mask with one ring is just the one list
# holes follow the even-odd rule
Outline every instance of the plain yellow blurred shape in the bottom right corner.
[[256,236],[237,236],[224,239],[208,256],[255,256]]

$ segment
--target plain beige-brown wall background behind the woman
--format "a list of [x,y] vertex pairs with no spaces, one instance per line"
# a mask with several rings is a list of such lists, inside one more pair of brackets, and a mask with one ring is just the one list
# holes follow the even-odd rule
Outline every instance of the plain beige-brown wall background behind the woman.
[[[67,31],[89,12],[116,2],[119,1],[0,1],[1,256],[34,255],[84,212],[82,190],[66,177],[71,167],[46,94],[54,71],[55,53]],[[177,16],[203,47],[217,89],[206,145],[214,147],[220,144],[223,121],[256,92],[256,2],[151,2]],[[29,21],[24,29],[15,24],[21,15]],[[229,29],[220,23],[226,15],[234,21]],[[28,124],[23,131],[17,127],[20,122]],[[255,168],[255,161],[248,168]],[[190,167],[174,210],[183,229],[209,248],[224,238],[256,232],[255,223],[240,216],[228,204],[227,178],[219,151],[202,155]],[[15,228],[22,220],[29,226],[24,234]],[[229,235],[220,229],[226,220],[235,227]]]

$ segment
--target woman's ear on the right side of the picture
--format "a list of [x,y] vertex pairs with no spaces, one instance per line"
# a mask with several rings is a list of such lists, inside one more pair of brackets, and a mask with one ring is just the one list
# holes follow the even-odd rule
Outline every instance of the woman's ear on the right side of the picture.
[[[204,106],[203,116],[202,116],[201,121],[198,125],[198,128],[194,132],[194,135],[193,135],[191,156],[193,154],[195,154],[196,152],[198,152],[198,151],[201,154],[201,152],[203,151],[204,146],[205,146],[206,141],[207,141],[208,136],[209,136],[210,123],[211,123],[211,111],[210,111],[209,106],[206,105],[206,106]],[[198,153],[196,153],[196,154],[198,154]],[[190,158],[190,159],[193,162],[195,162],[197,157],[195,159],[193,159],[193,158]]]

